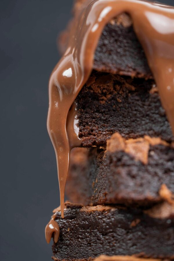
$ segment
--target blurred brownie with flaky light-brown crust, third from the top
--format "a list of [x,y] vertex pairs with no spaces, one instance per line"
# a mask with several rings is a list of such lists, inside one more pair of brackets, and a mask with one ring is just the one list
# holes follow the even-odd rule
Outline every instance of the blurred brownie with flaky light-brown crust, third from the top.
[[115,133],[106,149],[75,148],[71,153],[66,195],[84,205],[149,206],[174,193],[174,147],[145,136],[125,140]]

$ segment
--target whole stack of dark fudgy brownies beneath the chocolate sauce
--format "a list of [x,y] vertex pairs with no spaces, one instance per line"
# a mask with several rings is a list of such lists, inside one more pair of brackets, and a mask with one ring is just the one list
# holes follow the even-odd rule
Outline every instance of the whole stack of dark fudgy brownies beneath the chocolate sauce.
[[75,102],[81,148],[71,152],[64,219],[54,211],[53,260],[174,259],[174,137],[128,14],[105,26]]

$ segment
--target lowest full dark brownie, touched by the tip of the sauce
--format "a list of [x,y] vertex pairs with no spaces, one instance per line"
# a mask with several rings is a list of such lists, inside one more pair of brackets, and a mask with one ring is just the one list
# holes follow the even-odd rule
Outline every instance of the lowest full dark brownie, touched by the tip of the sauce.
[[145,213],[117,205],[66,203],[64,219],[56,211],[60,235],[52,246],[54,260],[90,260],[101,254],[174,258],[173,205],[160,204]]

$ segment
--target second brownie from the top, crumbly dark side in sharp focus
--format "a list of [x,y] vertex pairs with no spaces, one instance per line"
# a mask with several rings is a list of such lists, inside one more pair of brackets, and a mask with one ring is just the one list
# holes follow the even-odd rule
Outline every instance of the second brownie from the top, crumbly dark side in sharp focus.
[[82,146],[102,146],[115,132],[174,140],[153,80],[93,71],[75,102]]

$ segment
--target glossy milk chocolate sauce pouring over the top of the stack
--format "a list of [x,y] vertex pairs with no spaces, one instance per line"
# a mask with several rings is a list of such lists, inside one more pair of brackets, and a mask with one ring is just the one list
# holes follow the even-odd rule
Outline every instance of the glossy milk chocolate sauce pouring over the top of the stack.
[[95,48],[104,26],[122,12],[132,17],[135,33],[144,48],[174,132],[174,8],[139,0],[87,3],[88,6],[74,21],[68,48],[49,82],[47,127],[57,159],[62,218],[70,151],[81,143],[78,115],[73,103],[90,76]]

